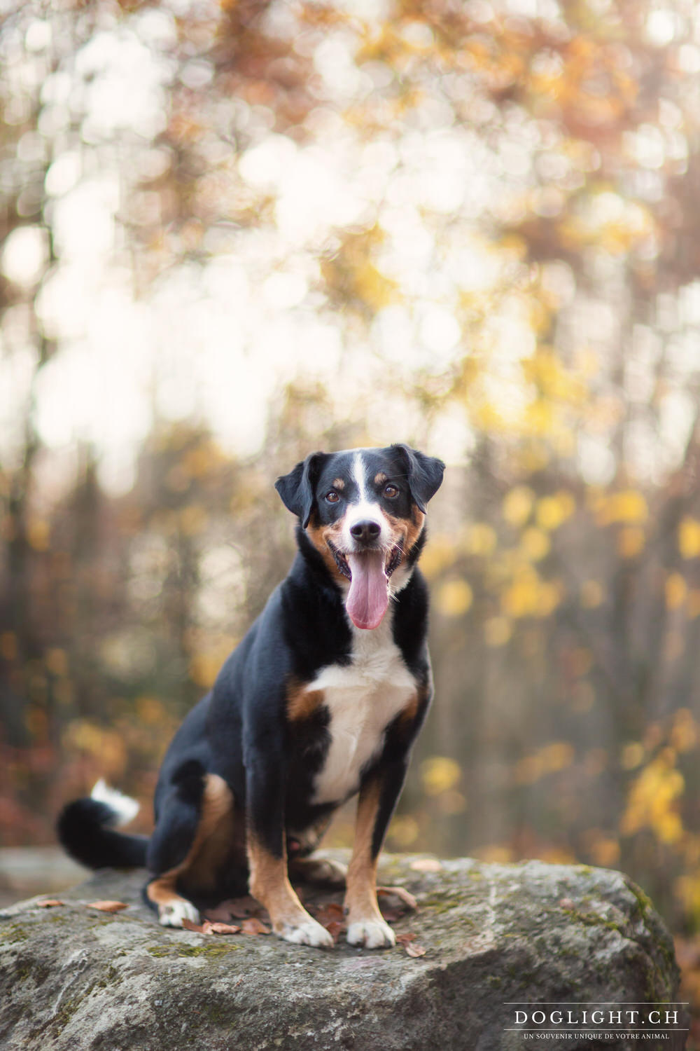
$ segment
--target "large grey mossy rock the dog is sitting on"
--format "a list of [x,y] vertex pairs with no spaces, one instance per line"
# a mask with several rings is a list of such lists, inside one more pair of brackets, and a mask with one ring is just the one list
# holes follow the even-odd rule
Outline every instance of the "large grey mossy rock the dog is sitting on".
[[[62,894],[62,906],[14,905],[0,913],[0,1047],[487,1051],[525,1045],[517,1002],[549,1002],[550,1012],[556,1003],[676,995],[672,940],[619,872],[535,861],[445,861],[434,872],[411,864],[385,857],[380,878],[419,900],[419,911],[395,924],[425,948],[417,957],[401,945],[352,948],[342,936],[321,951],[274,936],[165,929],[141,903],[143,872],[98,873]],[[96,899],[128,908],[87,908]],[[332,900],[340,897],[305,893],[310,905]],[[659,1046],[682,1048],[682,1035]]]

